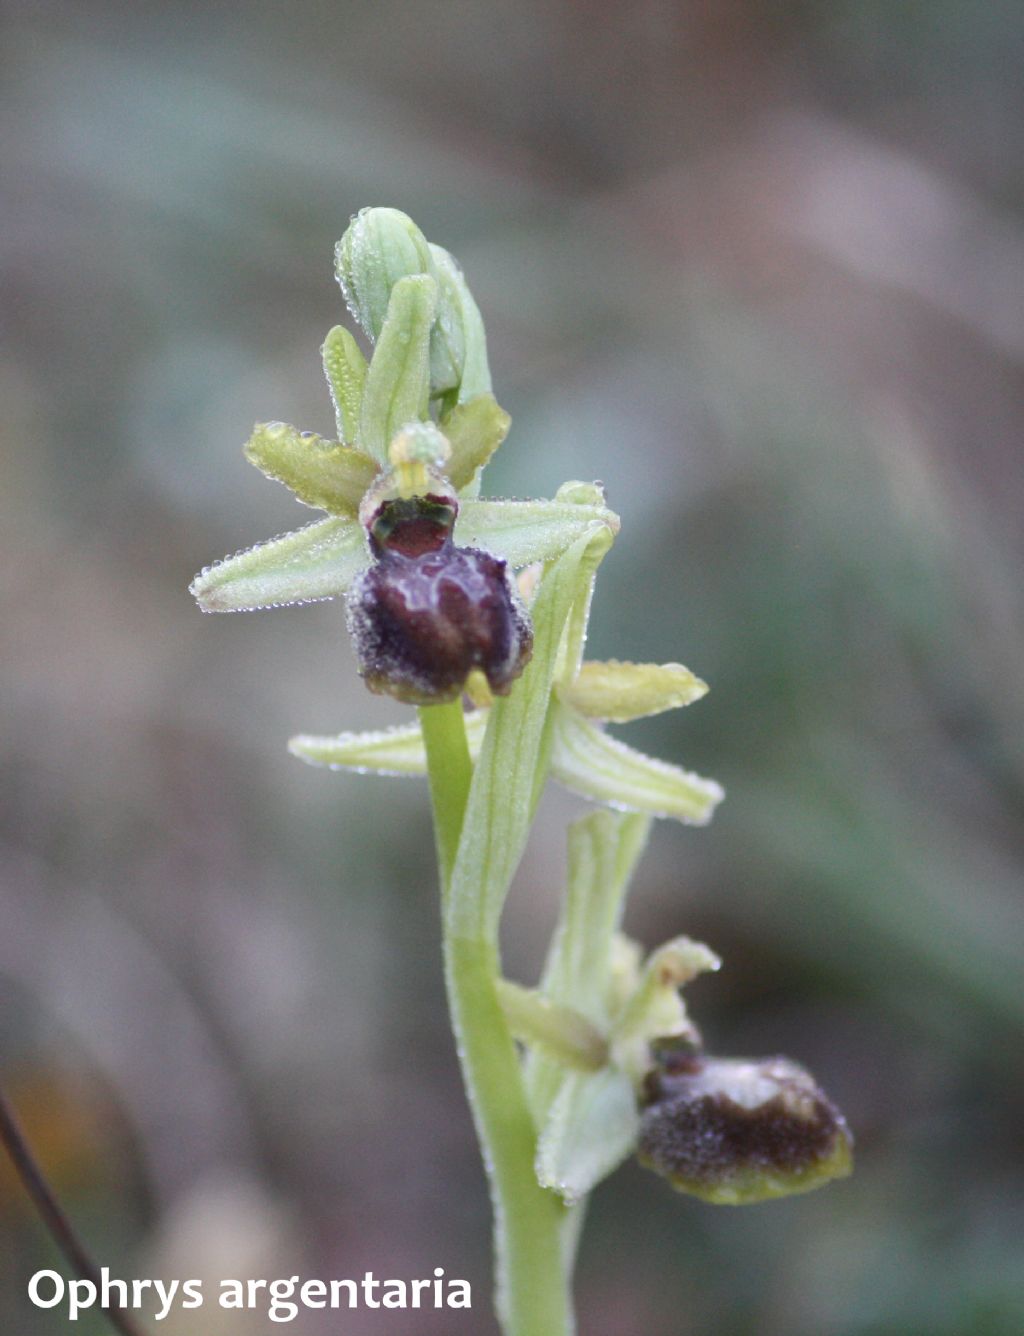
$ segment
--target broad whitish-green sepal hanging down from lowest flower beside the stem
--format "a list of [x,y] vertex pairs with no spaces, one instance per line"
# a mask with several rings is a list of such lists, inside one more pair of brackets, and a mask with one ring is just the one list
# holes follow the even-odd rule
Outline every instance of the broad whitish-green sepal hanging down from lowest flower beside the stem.
[[537,1142],[537,1180],[569,1204],[632,1154],[640,1118],[630,1078],[615,1067],[572,1071],[561,1083]]

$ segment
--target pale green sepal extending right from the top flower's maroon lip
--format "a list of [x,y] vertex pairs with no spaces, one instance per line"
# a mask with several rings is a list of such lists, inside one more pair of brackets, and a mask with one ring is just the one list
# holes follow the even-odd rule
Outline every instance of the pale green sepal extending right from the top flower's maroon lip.
[[560,556],[595,524],[612,534],[619,532],[619,517],[602,505],[463,501],[455,538],[464,548],[485,548],[519,569]]

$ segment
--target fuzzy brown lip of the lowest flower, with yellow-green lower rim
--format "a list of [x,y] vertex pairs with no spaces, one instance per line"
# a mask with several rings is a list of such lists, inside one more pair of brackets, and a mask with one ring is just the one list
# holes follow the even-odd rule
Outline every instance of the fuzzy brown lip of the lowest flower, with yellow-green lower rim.
[[767,1201],[852,1170],[845,1118],[789,1058],[680,1050],[648,1074],[646,1100],[640,1164],[705,1201]]

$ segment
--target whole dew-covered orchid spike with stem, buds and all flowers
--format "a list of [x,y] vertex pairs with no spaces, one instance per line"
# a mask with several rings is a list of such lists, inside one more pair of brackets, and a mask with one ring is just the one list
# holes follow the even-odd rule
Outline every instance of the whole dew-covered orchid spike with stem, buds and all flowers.
[[[303,733],[290,749],[429,779],[499,1319],[505,1336],[569,1336],[575,1208],[628,1154],[684,1192],[743,1202],[848,1173],[850,1137],[794,1063],[703,1054],[679,990],[718,969],[709,947],[678,937],[644,957],[622,931],[652,818],[702,826],[723,791],[607,732],[707,685],[678,663],[584,659],[595,576],[619,530],[603,489],[481,498],[509,418],[465,278],[409,218],[357,215],[336,270],[373,345],[368,362],[344,326],[324,342],[337,438],[263,422],[245,446],[324,516],[207,566],[191,589],[206,612],[344,599],[366,685],[418,707],[408,724]],[[561,916],[525,987],[501,973],[499,925],[548,776],[599,810],[569,828]]]

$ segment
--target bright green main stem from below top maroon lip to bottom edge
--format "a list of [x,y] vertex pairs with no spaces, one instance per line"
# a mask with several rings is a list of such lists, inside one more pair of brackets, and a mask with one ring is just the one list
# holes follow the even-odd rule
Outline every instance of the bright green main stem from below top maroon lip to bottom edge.
[[[536,1129],[497,985],[497,943],[453,930],[448,884],[468,796],[461,705],[421,711],[444,895],[448,1005],[469,1105],[487,1166],[495,1216],[497,1312],[505,1336],[572,1336],[575,1323],[563,1226],[565,1206],[537,1182]],[[455,840],[455,847],[453,847]],[[487,842],[477,842],[487,850]],[[485,854],[481,860],[485,859]],[[479,882],[485,884],[485,868]],[[483,918],[483,916],[481,916]]]

